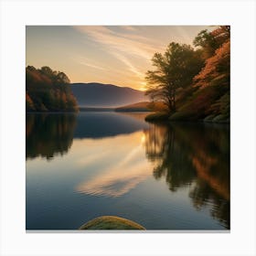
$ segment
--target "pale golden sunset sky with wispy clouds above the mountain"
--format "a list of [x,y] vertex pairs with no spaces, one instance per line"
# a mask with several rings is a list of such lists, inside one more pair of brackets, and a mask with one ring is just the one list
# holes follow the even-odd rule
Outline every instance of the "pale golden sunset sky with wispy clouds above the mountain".
[[26,65],[65,72],[71,82],[144,91],[155,52],[170,42],[193,45],[206,26],[27,26]]

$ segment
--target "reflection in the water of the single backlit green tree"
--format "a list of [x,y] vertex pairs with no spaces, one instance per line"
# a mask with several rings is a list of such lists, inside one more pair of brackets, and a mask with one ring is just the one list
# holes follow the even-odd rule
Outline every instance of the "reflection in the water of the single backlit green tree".
[[155,163],[156,179],[165,177],[171,191],[191,184],[196,176],[186,151],[177,144],[176,131],[172,126],[152,124],[145,132],[146,156]]

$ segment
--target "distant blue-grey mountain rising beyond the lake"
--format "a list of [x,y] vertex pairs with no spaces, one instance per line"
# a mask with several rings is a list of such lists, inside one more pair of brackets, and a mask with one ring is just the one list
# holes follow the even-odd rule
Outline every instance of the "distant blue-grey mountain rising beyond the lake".
[[119,107],[138,101],[148,101],[144,91],[112,84],[72,83],[70,88],[80,107]]

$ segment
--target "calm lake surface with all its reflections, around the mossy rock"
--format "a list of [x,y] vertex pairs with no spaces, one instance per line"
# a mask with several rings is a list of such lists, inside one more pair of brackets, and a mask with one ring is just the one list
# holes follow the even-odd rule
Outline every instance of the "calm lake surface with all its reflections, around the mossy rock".
[[144,115],[27,114],[27,229],[229,229],[229,126]]

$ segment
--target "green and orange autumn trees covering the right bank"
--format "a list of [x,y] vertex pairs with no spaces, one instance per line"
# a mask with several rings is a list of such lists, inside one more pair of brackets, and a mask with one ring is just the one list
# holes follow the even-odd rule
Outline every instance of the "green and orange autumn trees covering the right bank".
[[165,103],[171,120],[229,123],[230,27],[201,31],[194,46],[172,42],[155,53],[146,94]]

